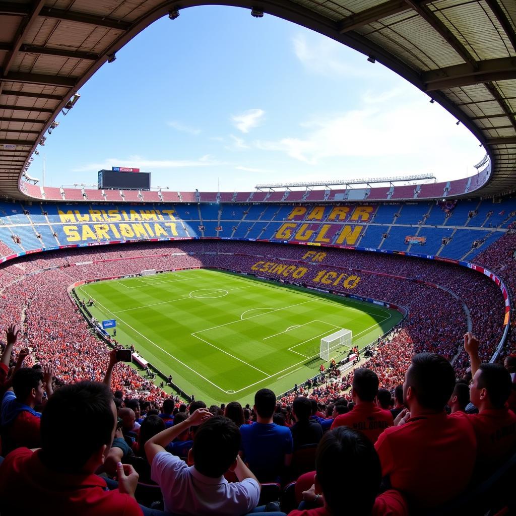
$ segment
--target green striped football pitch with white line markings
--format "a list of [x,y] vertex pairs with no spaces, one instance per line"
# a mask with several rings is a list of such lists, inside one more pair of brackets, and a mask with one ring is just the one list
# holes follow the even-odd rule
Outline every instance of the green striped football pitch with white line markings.
[[101,281],[76,293],[94,299],[98,320],[116,319],[120,343],[208,406],[252,405],[263,387],[281,394],[317,374],[322,337],[349,329],[362,348],[401,319],[374,304],[213,269]]

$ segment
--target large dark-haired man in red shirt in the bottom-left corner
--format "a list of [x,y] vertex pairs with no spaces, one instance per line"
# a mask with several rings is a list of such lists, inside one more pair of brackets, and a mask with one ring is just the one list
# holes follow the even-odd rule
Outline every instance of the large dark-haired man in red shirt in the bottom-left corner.
[[[92,425],[71,422],[88,421]],[[134,499],[138,474],[118,465],[119,488],[109,491],[94,475],[104,462],[116,427],[106,385],[83,381],[61,387],[41,417],[41,449],[19,448],[0,465],[0,508],[17,514],[140,516]],[[79,445],[80,444],[80,445]],[[27,490],[30,490],[29,492]]]

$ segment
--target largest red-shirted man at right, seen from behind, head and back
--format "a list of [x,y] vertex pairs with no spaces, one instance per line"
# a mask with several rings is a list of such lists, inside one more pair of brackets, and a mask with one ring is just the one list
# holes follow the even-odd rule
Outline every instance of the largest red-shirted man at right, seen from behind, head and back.
[[[455,373],[437,353],[412,357],[404,383],[408,420],[378,438],[383,476],[415,507],[433,507],[464,490],[473,472],[476,438],[465,416],[448,417],[444,406]],[[405,421],[405,418],[404,418]]]

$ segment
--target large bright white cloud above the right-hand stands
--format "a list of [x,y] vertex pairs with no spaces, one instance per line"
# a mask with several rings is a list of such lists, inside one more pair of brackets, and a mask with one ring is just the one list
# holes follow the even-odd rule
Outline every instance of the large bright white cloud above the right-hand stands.
[[[377,98],[391,101],[377,104]],[[463,177],[465,165],[471,169],[483,155],[465,127],[455,125],[453,117],[418,92],[368,92],[359,108],[319,115],[300,124],[296,133],[255,141],[254,146],[327,170],[338,170],[342,163],[338,175],[345,177],[363,175],[371,166],[376,169],[373,175],[434,172],[446,180],[451,174]],[[349,168],[350,162],[355,164],[354,170]],[[384,163],[391,170],[387,171]]]

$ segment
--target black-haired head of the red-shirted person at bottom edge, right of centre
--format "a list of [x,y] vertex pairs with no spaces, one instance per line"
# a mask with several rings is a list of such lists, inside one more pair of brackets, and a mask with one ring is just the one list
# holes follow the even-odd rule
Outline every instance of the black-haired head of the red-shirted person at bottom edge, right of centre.
[[[346,467],[335,467],[346,464]],[[380,487],[382,470],[375,447],[362,432],[341,426],[322,436],[317,446],[315,471],[330,512],[370,516]],[[360,482],[353,487],[353,496],[343,505],[343,486],[349,472]]]

